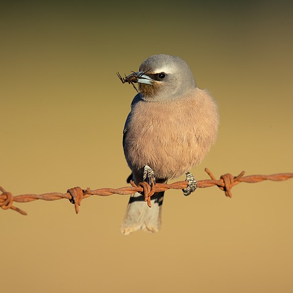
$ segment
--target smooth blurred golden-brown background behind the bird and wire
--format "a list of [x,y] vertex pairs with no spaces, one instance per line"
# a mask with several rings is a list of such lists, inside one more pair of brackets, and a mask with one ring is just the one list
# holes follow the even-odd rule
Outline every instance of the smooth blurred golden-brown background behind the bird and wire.
[[[135,95],[116,72],[180,56],[220,113],[206,179],[293,172],[293,13],[285,1],[10,2],[0,9],[0,185],[126,186]],[[182,177],[181,179],[184,179]],[[122,236],[128,196],[0,210],[1,292],[293,292],[293,181],[166,192],[162,230]]]

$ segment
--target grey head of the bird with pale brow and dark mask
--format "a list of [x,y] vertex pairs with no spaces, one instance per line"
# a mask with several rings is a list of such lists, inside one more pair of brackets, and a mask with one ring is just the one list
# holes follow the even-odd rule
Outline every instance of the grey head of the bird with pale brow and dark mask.
[[187,63],[175,56],[150,56],[140,65],[139,74],[143,77],[138,79],[140,93],[146,101],[177,100],[196,87]]

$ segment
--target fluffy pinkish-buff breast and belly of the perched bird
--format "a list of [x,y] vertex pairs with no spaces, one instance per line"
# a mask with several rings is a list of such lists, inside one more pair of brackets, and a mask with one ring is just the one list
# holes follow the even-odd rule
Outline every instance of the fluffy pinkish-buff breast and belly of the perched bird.
[[[215,139],[209,119],[189,103],[141,101],[131,110],[124,150],[133,171],[150,166],[158,178],[182,175],[198,164]],[[209,116],[209,115],[208,115]],[[209,129],[210,128],[210,129]]]

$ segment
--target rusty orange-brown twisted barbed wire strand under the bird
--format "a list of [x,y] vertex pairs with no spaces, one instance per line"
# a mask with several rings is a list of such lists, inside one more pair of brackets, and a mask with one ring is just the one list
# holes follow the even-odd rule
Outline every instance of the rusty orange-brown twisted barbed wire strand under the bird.
[[[221,190],[225,192],[225,195],[228,197],[232,197],[231,188],[241,182],[246,183],[257,183],[264,180],[271,180],[271,181],[283,181],[290,178],[293,178],[293,173],[278,173],[272,175],[249,175],[244,176],[245,171],[242,171],[238,176],[233,176],[230,173],[224,174],[220,176],[220,179],[216,179],[216,177],[212,174],[212,172],[205,168],[205,171],[208,173],[211,179],[200,180],[197,181],[198,188],[207,188],[212,186],[217,186]],[[178,181],[172,184],[162,184],[157,183],[153,188],[146,182],[141,182],[138,185],[135,185],[133,181],[130,181],[131,186],[122,187],[122,188],[100,188],[96,190],[91,190],[90,188],[82,189],[80,187],[70,188],[67,190],[66,193],[60,192],[50,192],[50,193],[43,193],[43,194],[22,194],[13,196],[11,192],[6,191],[4,188],[0,187],[0,208],[2,209],[13,209],[18,211],[22,215],[27,215],[25,211],[14,207],[12,204],[13,202],[17,203],[26,203],[32,202],[38,199],[52,201],[52,200],[59,200],[66,198],[72,204],[74,204],[75,212],[79,212],[79,206],[81,205],[81,201],[84,198],[87,198],[92,195],[99,195],[99,196],[109,196],[112,194],[120,194],[120,195],[127,195],[132,194],[134,192],[140,192],[144,194],[145,201],[148,205],[150,205],[150,197],[155,192],[165,191],[167,189],[183,189],[188,186],[188,181]]]

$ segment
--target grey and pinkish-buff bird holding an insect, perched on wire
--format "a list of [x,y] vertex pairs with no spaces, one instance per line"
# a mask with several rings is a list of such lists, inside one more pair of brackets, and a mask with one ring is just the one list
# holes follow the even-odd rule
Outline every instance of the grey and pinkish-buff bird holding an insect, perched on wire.
[[[136,185],[142,181],[152,185],[186,174],[188,187],[183,193],[189,195],[196,188],[189,170],[201,162],[217,138],[217,105],[209,91],[197,87],[184,60],[166,54],[148,57],[126,79],[117,74],[123,83],[139,87],[123,131],[126,162],[132,171],[128,179]],[[142,194],[133,193],[121,233],[159,231],[163,198],[164,191],[154,193],[150,208]]]

